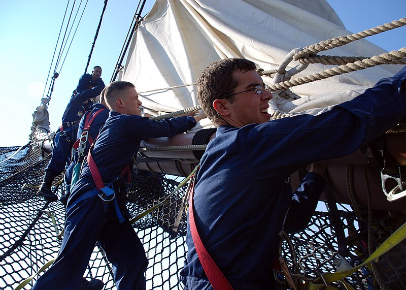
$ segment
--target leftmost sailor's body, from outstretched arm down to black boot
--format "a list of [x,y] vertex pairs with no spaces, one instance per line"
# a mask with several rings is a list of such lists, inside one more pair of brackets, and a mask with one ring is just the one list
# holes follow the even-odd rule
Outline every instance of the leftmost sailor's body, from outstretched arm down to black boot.
[[63,172],[65,166],[70,164],[71,150],[76,141],[80,119],[93,105],[91,99],[99,95],[103,88],[103,86],[95,86],[73,95],[67,104],[62,116],[62,125],[53,139],[51,160],[45,168],[44,178],[38,190],[38,194],[46,201],[53,202],[58,199],[51,190],[52,182]]

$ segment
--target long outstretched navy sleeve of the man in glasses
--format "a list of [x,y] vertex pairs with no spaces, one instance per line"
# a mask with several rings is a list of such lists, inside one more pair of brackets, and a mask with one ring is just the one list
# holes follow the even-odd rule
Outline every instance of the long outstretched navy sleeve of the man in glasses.
[[[323,114],[298,115],[239,130],[241,158],[253,180],[283,178],[320,160],[348,155],[397,125],[406,114],[403,68],[392,78]],[[270,175],[269,175],[270,174]]]

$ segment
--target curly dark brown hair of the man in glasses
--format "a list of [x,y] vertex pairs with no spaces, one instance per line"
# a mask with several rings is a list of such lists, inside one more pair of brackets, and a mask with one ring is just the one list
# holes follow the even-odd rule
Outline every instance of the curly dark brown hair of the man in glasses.
[[[213,102],[219,96],[231,94],[239,84],[233,78],[234,72],[256,70],[255,63],[245,58],[226,58],[213,62],[197,79],[197,99],[208,118],[215,126],[224,121],[213,108]],[[233,102],[233,97],[229,99]]]

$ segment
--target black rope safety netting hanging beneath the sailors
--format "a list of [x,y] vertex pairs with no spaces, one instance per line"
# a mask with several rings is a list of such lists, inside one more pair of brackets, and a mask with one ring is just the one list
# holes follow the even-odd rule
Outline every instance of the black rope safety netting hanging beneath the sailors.
[[[15,288],[56,256],[59,250],[61,240],[58,236],[63,229],[64,207],[59,201],[47,203],[36,194],[44,168],[49,162],[49,153],[32,144],[0,148],[1,289]],[[56,178],[53,186],[59,197],[63,192],[63,186],[58,182],[60,179]],[[179,181],[172,176],[140,173],[133,174],[127,186],[127,208],[132,218],[153,205],[160,205],[133,223],[149,260],[147,289],[181,288],[178,273],[183,267],[186,254],[186,213],[183,213],[177,235],[172,234],[172,229],[182,204],[184,188],[168,197]],[[335,232],[325,208],[324,203],[320,202],[308,227],[290,236],[295,259],[289,251],[288,243],[283,243],[283,253],[290,268],[296,268],[296,273],[310,278],[320,273],[334,272],[334,261],[338,258]],[[368,256],[368,227],[357,219],[348,206],[342,206],[340,214],[350,249],[346,261],[351,266],[359,265]],[[399,224],[387,213],[374,213],[374,217],[374,238],[371,243],[375,248]],[[406,288],[403,275],[406,270],[405,255],[406,244],[403,242],[376,263],[379,279],[390,288]],[[111,266],[98,247],[94,248],[84,276],[103,280],[105,289],[115,288]],[[364,267],[346,281],[357,289],[379,289],[374,277],[371,269]],[[24,289],[31,288],[36,278]],[[335,285],[342,287],[340,284]]]

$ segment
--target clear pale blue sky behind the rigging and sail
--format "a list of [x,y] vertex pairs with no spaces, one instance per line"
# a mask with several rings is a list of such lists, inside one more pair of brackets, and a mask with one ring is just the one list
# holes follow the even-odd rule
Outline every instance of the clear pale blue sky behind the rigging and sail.
[[[80,1],[76,2],[78,5]],[[142,15],[150,10],[153,2],[147,1]],[[346,28],[354,33],[406,17],[405,0],[327,2]],[[86,0],[83,0],[82,5],[84,3]],[[0,114],[0,147],[20,146],[29,141],[31,114],[41,104],[66,5],[67,0],[16,0],[2,1],[0,4],[0,103],[3,105]],[[113,74],[137,5],[138,0],[108,2],[88,69],[91,72],[94,66],[103,68],[101,77],[106,84]],[[69,54],[62,69],[57,69],[60,75],[55,82],[49,105],[52,130],[60,125],[72,90],[84,73],[103,6],[103,0],[88,0]],[[367,40],[388,51],[398,50],[406,47],[406,27],[368,37]],[[62,61],[63,58],[60,63]],[[49,84],[46,92],[48,87]]]

